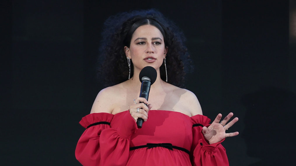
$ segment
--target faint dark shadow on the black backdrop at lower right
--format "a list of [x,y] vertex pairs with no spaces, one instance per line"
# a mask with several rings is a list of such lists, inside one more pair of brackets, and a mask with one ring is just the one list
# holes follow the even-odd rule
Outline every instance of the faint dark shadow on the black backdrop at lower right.
[[260,161],[250,166],[290,165],[295,157],[296,95],[275,87],[242,97],[247,111],[242,133],[247,154]]

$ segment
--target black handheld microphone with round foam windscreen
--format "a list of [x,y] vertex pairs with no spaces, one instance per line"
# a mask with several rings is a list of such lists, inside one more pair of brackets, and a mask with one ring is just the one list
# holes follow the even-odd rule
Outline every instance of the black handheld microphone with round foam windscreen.
[[[150,86],[155,82],[157,77],[156,70],[151,66],[144,67],[139,74],[141,85],[140,97],[144,97],[148,101]],[[147,104],[145,104],[147,105]],[[142,118],[138,118],[137,126],[138,128],[142,128],[144,120]]]

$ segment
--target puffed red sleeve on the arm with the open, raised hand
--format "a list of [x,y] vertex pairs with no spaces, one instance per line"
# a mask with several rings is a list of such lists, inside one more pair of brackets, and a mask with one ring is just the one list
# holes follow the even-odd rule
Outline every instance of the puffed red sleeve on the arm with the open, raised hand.
[[209,144],[202,134],[203,126],[210,126],[210,119],[203,115],[195,115],[191,117],[193,142],[191,153],[192,165],[194,166],[228,166],[228,158],[225,148],[221,142]]

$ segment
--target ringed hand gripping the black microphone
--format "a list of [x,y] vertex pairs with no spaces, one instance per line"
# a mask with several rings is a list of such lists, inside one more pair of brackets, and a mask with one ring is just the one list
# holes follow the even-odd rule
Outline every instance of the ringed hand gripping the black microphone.
[[[139,108],[139,113],[137,113],[137,108]],[[142,118],[144,121],[147,121],[148,112],[151,108],[152,105],[148,104],[148,101],[144,97],[137,97],[134,99],[133,104],[130,105],[129,112],[136,122],[138,118]]]

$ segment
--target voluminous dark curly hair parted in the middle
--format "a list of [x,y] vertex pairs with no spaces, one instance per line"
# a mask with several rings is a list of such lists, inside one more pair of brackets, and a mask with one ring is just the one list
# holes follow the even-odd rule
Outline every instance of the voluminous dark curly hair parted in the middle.
[[[184,87],[185,71],[191,71],[191,59],[184,45],[185,37],[179,28],[155,9],[124,12],[109,17],[104,23],[99,49],[99,78],[105,86],[119,84],[128,79],[129,68],[124,46],[129,47],[133,32],[141,25],[157,27],[168,48],[166,66],[168,83]],[[185,65],[186,64],[186,65]],[[133,64],[131,61],[131,77]],[[165,80],[165,66],[160,66],[160,77]]]

